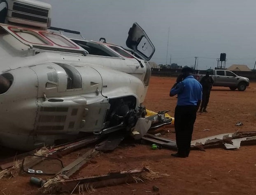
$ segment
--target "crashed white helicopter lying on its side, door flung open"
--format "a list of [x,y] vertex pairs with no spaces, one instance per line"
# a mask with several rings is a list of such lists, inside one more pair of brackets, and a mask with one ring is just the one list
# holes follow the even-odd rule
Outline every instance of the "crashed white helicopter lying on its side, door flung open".
[[49,28],[50,14],[47,3],[0,0],[0,145],[31,150],[171,123],[165,112],[144,119],[155,48],[137,23],[126,50]]

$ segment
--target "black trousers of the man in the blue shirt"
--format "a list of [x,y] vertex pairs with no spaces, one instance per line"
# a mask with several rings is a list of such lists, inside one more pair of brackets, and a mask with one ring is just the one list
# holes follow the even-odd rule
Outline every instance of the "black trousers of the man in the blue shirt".
[[197,106],[176,106],[175,133],[178,153],[189,156]]

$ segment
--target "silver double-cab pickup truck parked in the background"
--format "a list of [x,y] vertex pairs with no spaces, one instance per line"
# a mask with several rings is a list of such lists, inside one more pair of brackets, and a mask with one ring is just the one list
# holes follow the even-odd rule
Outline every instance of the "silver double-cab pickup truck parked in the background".
[[[238,89],[244,91],[249,86],[249,78],[237,76],[235,73],[227,70],[209,70],[210,76],[214,80],[213,86],[229,87],[231,90]],[[193,74],[193,76],[200,81],[203,74]]]

